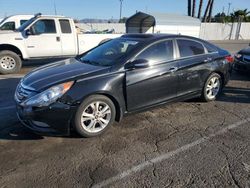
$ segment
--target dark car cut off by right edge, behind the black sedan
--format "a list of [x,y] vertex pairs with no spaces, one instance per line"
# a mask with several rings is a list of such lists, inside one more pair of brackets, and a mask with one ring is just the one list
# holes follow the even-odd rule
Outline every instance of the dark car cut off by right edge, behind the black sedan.
[[250,47],[235,54],[234,69],[239,72],[250,72]]

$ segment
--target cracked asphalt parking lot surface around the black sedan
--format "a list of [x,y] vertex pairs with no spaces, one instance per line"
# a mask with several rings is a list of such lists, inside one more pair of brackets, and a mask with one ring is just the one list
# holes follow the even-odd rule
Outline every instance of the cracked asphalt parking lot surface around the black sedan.
[[20,74],[0,76],[0,187],[250,187],[250,77],[217,101],[125,117],[96,138],[36,135],[18,122]]

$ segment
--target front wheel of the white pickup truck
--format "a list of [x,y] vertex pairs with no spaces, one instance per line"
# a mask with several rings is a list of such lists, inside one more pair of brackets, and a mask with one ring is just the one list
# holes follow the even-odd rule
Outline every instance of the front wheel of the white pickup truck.
[[22,67],[21,58],[12,51],[0,52],[0,74],[12,74],[20,71]]

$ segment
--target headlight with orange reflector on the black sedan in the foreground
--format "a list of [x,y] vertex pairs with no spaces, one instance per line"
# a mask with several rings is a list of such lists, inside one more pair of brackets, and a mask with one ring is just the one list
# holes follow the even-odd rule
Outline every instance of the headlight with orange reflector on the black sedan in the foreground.
[[42,93],[39,93],[26,101],[24,101],[21,105],[22,106],[36,106],[36,107],[42,107],[42,106],[48,106],[51,103],[55,102],[57,99],[59,99],[61,96],[63,96],[64,93],[66,93],[74,82],[66,82],[63,84],[59,84],[56,86],[53,86]]

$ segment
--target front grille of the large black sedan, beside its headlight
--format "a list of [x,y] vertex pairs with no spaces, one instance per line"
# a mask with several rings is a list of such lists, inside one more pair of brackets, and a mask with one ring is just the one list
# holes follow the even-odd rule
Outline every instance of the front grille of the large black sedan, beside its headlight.
[[15,92],[15,99],[18,103],[25,101],[30,96],[33,96],[36,92],[31,88],[24,86],[22,83],[18,84]]

